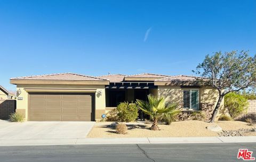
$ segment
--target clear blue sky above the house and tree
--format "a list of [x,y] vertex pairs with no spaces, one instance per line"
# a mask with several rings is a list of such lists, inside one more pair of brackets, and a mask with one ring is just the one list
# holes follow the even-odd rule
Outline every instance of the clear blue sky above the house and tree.
[[206,54],[256,54],[256,1],[1,1],[0,84],[74,72],[193,74]]

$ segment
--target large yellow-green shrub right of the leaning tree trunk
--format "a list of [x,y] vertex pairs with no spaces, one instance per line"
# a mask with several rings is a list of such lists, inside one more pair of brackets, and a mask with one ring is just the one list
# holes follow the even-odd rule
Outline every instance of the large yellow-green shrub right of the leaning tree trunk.
[[248,101],[243,95],[231,92],[225,96],[225,108],[232,118],[241,115],[248,107]]

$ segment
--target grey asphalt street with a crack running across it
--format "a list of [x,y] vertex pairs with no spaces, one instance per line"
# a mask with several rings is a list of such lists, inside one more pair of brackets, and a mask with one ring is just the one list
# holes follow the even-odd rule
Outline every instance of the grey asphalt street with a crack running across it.
[[241,148],[253,151],[253,157],[256,157],[256,143],[105,144],[2,146],[0,147],[0,161],[243,161],[237,159],[238,149]]

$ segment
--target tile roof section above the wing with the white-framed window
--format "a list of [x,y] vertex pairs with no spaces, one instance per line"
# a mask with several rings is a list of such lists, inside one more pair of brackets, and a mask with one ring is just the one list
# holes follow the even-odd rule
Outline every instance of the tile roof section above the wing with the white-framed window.
[[205,79],[203,77],[199,76],[188,76],[188,75],[175,75],[175,76],[169,76],[162,79],[156,79],[157,82],[194,82],[198,79]]

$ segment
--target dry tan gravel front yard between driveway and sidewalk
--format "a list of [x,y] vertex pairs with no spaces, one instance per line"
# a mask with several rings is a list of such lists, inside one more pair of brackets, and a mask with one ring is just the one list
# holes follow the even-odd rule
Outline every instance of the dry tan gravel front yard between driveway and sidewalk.
[[127,123],[127,133],[117,134],[113,128],[108,127],[112,122],[96,123],[87,135],[88,138],[132,138],[132,137],[209,137],[218,136],[217,132],[206,129],[207,126],[218,124],[222,130],[248,129],[253,126],[240,121],[217,121],[207,123],[203,121],[172,122],[171,125],[159,124],[161,131],[151,131],[151,124]]

